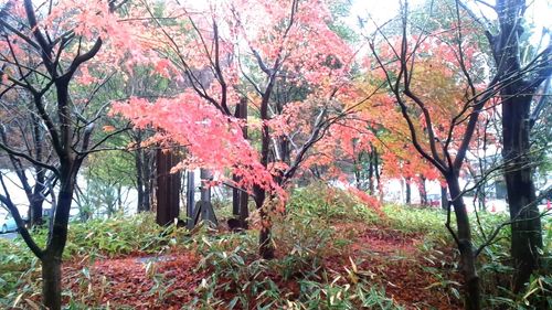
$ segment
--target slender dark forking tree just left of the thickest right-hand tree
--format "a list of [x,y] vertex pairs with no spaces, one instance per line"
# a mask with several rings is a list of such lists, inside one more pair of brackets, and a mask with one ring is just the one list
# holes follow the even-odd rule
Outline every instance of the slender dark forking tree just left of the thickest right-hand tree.
[[[445,10],[439,17],[447,11],[453,14],[448,20],[440,19],[435,28],[432,17],[442,8]],[[446,226],[460,253],[465,307],[480,309],[476,268],[480,249],[473,244],[458,178],[486,103],[519,75],[486,78],[477,65],[485,62],[485,55],[477,53],[479,40],[473,35],[477,28],[466,22],[458,2],[432,2],[422,22],[410,19],[407,2],[401,11],[401,33],[391,36],[379,28],[369,44],[407,125],[411,143],[447,182],[457,228],[450,225],[450,209]],[[375,38],[380,38],[380,44]]]

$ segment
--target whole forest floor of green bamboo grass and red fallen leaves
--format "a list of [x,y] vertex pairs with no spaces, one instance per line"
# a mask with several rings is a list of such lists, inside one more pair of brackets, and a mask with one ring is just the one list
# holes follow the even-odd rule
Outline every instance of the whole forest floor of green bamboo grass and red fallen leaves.
[[[346,191],[319,200],[326,190],[317,184],[294,193],[288,212],[275,218],[279,255],[272,260],[256,255],[254,232],[203,226],[190,234],[163,229],[148,214],[72,224],[64,301],[68,309],[461,307],[458,254],[447,246],[453,240],[443,211],[386,205],[380,218]],[[481,229],[490,232],[502,220],[482,216]],[[503,282],[511,272],[507,236],[505,231],[484,254],[486,307],[539,309],[550,302],[550,275],[539,275],[523,295],[511,295]],[[40,266],[21,240],[1,242],[7,250],[0,256],[0,302],[32,309],[40,304]]]

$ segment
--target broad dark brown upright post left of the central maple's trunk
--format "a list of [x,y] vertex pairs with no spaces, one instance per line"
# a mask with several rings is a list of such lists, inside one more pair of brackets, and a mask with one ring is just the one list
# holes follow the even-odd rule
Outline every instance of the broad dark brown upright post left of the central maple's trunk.
[[173,151],[157,151],[157,216],[161,226],[174,223],[180,213],[180,178],[181,173],[170,173],[177,165],[179,157]]

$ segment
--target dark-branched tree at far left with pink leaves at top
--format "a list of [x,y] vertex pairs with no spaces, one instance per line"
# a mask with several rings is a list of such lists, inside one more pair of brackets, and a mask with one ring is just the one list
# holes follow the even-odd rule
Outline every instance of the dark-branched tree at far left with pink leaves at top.
[[113,13],[125,2],[60,1],[56,6],[36,9],[33,1],[25,0],[8,1],[1,10],[0,96],[10,103],[29,98],[29,108],[21,113],[25,119],[36,118],[44,130],[45,149],[52,152],[39,158],[29,152],[32,149],[21,149],[9,139],[0,142],[0,150],[54,175],[55,186],[51,184],[50,190],[55,191],[56,200],[45,248],[41,248],[25,228],[2,174],[0,201],[42,264],[43,303],[53,310],[62,306],[61,264],[76,177],[87,154],[100,150],[103,141],[118,133],[114,131],[97,141],[92,139],[104,109],[88,108],[94,87],[83,96],[74,86],[77,81],[81,85],[89,82],[85,64],[97,58],[103,46],[116,45],[120,57],[128,51],[124,47],[131,44],[120,36],[125,30]]

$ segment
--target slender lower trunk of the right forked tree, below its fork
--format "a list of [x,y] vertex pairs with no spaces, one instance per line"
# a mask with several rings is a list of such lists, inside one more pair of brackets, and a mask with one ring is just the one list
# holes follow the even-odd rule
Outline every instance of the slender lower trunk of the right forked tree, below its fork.
[[460,252],[459,269],[464,277],[464,307],[466,310],[479,310],[481,309],[480,285],[476,269],[476,257],[471,245],[471,228],[469,226],[468,212],[461,197],[463,193],[458,178],[456,175],[448,177],[447,183],[458,227],[457,246]]

